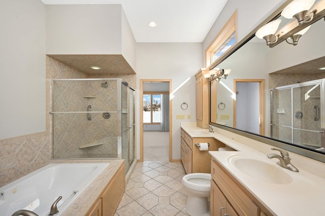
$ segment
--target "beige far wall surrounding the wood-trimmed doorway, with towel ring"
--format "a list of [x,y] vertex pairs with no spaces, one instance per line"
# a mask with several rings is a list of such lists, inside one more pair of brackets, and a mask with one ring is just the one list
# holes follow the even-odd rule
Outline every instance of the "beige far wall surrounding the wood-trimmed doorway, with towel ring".
[[[201,43],[138,43],[137,44],[137,83],[141,79],[171,79],[173,98],[172,133],[174,160],[180,159],[180,123],[196,122],[196,97],[195,74],[202,67]],[[140,91],[137,91],[137,98]],[[181,109],[181,104],[188,104],[187,110]],[[139,100],[137,107],[140,107]],[[209,107],[207,107],[209,108]],[[176,119],[176,115],[182,114],[190,119]],[[140,111],[137,111],[140,116]],[[137,120],[137,125],[140,119]],[[140,134],[140,128],[137,128]],[[138,159],[140,159],[140,136],[137,139]]]

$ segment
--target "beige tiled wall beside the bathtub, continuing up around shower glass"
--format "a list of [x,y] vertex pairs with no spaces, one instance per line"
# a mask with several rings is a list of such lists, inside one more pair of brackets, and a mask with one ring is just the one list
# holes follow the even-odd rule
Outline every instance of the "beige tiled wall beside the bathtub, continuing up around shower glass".
[[87,75],[46,57],[46,130],[0,140],[0,187],[39,169],[52,159],[51,79],[122,78],[136,88],[136,75]]

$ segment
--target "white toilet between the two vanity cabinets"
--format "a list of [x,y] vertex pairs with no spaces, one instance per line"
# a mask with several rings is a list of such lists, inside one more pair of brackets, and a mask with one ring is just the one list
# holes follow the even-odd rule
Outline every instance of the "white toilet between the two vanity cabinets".
[[191,173],[184,175],[182,184],[188,192],[185,211],[191,216],[210,215],[210,173]]

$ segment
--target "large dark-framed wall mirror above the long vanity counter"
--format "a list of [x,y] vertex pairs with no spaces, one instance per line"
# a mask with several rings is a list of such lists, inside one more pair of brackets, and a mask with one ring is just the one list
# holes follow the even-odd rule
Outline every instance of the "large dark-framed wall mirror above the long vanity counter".
[[[310,27],[295,46],[291,38],[286,42],[282,37],[269,47],[255,36],[278,19],[278,30],[296,26],[300,31],[297,20],[281,16],[291,2],[209,67],[231,69],[226,79],[210,82],[210,124],[325,162],[324,10],[316,11],[312,24],[303,24]],[[311,9],[317,4],[323,7],[325,0]],[[295,30],[287,31],[292,35]]]

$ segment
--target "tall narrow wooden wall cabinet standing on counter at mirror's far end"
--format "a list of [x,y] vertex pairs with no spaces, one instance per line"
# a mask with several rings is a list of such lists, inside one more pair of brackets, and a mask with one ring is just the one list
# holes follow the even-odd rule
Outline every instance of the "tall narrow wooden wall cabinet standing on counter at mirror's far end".
[[196,77],[196,116],[197,126],[204,128],[206,124],[209,124],[209,83],[203,77],[202,73],[208,73],[206,68],[201,68]]

